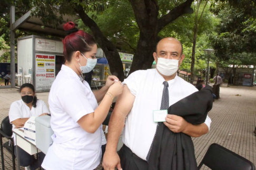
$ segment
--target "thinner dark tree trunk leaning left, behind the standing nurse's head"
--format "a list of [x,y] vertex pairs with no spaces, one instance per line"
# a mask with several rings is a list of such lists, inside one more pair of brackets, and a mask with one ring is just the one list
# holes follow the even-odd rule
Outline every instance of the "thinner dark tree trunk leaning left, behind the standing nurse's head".
[[94,38],[104,51],[106,59],[110,65],[111,74],[117,76],[120,81],[123,81],[125,78],[123,72],[123,64],[114,44],[102,34],[100,28],[97,26],[94,20],[84,12],[84,9],[81,5],[78,5],[78,7],[76,7],[74,10],[78,13],[84,25],[91,29]]

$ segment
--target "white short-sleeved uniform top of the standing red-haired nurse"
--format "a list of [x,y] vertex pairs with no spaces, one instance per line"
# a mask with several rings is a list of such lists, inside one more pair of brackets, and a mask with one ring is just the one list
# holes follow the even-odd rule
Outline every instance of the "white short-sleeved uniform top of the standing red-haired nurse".
[[62,65],[52,84],[48,103],[54,131],[53,144],[42,164],[47,170],[91,170],[100,164],[102,126],[92,134],[77,123],[98,106],[90,86],[81,80],[74,70]]

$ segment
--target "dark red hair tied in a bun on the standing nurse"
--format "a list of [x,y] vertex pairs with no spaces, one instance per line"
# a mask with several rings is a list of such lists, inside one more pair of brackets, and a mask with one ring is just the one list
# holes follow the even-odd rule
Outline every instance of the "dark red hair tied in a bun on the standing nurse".
[[70,62],[74,51],[82,53],[91,51],[91,47],[96,44],[95,39],[85,33],[83,30],[75,28],[73,22],[64,24],[63,29],[66,31],[67,36],[63,39],[63,54],[65,59]]

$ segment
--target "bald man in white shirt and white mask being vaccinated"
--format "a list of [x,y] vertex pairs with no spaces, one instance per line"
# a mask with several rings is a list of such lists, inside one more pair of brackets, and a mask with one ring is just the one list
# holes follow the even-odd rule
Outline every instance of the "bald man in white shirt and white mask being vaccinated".
[[[157,122],[153,120],[153,111],[162,107],[163,89],[168,89],[169,106],[198,91],[192,84],[176,75],[185,57],[180,41],[163,38],[157,44],[153,57],[156,69],[135,71],[123,82],[126,86],[123,94],[117,99],[109,123],[103,158],[104,169],[147,169],[149,151],[157,128]],[[165,86],[166,84],[168,85]],[[182,132],[192,137],[208,133],[211,124],[208,116],[205,122],[199,125],[192,125],[181,116],[172,114],[168,114],[165,121],[164,124],[172,132]],[[124,146],[119,157],[116,146],[123,127]]]

